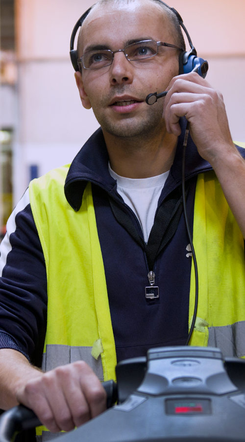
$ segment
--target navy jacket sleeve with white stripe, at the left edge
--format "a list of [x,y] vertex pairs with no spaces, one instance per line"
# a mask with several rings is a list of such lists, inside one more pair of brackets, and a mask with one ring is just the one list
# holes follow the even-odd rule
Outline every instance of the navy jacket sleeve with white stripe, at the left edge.
[[46,322],[45,259],[27,190],[0,244],[0,348],[20,351],[40,366]]

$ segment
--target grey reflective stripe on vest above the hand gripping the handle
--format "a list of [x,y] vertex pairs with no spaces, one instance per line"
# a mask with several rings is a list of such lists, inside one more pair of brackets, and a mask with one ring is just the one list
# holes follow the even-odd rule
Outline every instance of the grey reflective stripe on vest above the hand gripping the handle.
[[100,381],[104,380],[101,357],[93,358],[93,347],[73,347],[70,345],[49,344],[43,354],[42,370],[49,371],[60,365],[70,364],[77,360],[84,360],[92,368]]

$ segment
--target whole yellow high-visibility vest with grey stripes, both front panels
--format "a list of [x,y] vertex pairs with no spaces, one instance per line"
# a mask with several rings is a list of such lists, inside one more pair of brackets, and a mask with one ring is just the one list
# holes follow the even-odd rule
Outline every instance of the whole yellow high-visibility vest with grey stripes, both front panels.
[[[44,251],[48,322],[43,368],[78,359],[102,380],[115,378],[116,351],[91,184],[75,212],[66,200],[69,166],[30,183],[30,204]],[[214,171],[198,175],[193,242],[199,301],[191,345],[245,356],[244,239]],[[191,272],[191,324],[195,275]],[[103,373],[102,373],[103,372]]]

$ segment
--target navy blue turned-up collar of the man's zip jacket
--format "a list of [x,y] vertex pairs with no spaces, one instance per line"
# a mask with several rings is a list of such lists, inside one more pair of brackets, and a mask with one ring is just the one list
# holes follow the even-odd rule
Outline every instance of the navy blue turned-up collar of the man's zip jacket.
[[[185,135],[186,119],[180,119],[182,133],[178,139],[176,153],[170,174],[164,187],[168,193],[181,183],[182,146]],[[245,151],[245,149],[241,150]],[[108,171],[108,153],[101,128],[99,128],[84,144],[75,156],[67,174],[65,195],[71,207],[78,211],[82,204],[82,196],[88,181],[102,187],[112,195],[117,189],[117,182]],[[189,135],[186,149],[186,179],[198,173],[212,170],[211,165],[198,154],[196,145]]]

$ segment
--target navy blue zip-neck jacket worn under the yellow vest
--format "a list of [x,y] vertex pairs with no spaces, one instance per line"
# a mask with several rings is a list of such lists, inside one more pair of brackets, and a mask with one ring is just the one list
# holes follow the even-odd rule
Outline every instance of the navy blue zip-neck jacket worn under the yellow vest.
[[[187,339],[192,259],[187,248],[189,240],[182,203],[179,204],[185,120],[181,124],[182,135],[159,198],[154,222],[155,229],[159,230],[159,213],[167,213],[172,204],[170,201],[178,201],[177,224],[175,210],[175,215],[173,213],[169,217],[162,247],[159,252],[156,251],[153,262],[159,299],[147,300],[145,297],[149,266],[142,246],[143,233],[136,216],[117,193],[116,181],[109,174],[108,153],[101,129],[85,143],[67,175],[65,194],[74,210],[79,210],[87,181],[92,182],[118,360],[143,356],[151,347],[183,345]],[[243,149],[241,152],[244,154]],[[196,176],[211,169],[210,164],[199,156],[189,137],[186,187],[191,230]],[[120,207],[121,218],[129,220],[128,224],[134,226],[134,232],[141,238],[139,241],[125,227],[125,220],[115,216],[111,206],[113,202]],[[6,257],[0,278],[0,348],[16,349],[34,364],[40,365],[47,318],[45,260],[30,204],[27,201],[25,207],[22,204],[20,208],[18,210],[17,206],[12,216],[15,228],[12,231],[10,228],[9,236],[1,244],[7,252],[3,252]],[[172,227],[174,223],[176,225]]]

